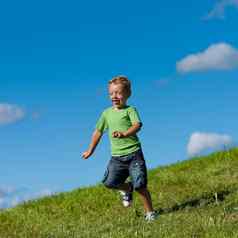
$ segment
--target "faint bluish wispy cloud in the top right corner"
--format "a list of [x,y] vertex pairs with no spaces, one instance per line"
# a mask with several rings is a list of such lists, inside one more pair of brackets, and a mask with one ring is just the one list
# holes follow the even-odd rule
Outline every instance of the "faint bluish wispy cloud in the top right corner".
[[215,4],[213,9],[204,17],[204,20],[210,20],[214,18],[224,19],[225,10],[228,7],[238,8],[238,0],[221,0]]

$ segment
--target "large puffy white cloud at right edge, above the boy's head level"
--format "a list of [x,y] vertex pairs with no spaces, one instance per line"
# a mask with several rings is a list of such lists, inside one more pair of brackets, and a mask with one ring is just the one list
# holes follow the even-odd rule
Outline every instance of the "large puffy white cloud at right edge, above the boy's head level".
[[227,43],[209,46],[205,51],[191,54],[176,63],[179,73],[238,68],[238,50]]

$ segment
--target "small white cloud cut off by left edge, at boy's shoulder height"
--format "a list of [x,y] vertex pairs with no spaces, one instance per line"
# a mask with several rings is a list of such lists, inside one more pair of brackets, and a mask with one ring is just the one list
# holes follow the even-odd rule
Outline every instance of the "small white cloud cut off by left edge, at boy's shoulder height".
[[25,117],[25,111],[17,105],[0,103],[0,125],[14,123]]

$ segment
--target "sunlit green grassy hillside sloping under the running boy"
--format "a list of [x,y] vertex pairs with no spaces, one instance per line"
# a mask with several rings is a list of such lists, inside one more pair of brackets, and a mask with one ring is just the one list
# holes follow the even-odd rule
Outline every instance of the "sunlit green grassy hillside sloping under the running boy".
[[238,237],[238,149],[149,171],[160,218],[144,221],[102,185],[60,193],[0,212],[0,237]]

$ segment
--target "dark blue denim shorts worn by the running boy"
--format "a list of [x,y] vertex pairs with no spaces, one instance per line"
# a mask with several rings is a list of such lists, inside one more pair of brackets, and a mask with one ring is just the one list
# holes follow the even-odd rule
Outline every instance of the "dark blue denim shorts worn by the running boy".
[[112,156],[103,177],[108,188],[118,188],[130,177],[133,189],[146,188],[147,169],[141,149],[126,156]]

